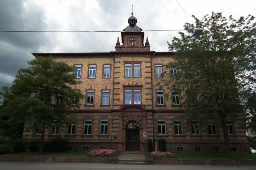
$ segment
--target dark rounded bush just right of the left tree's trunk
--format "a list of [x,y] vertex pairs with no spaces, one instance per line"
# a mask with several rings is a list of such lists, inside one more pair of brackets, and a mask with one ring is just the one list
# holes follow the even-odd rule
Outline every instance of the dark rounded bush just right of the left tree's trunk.
[[43,150],[45,152],[65,152],[68,148],[69,140],[57,137],[44,143]]

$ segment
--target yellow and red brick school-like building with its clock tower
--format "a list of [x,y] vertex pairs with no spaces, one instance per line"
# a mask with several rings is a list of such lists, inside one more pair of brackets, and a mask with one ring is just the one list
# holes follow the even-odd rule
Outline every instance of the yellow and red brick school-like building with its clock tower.
[[[129,19],[136,20],[135,17]],[[52,129],[48,129],[45,140],[68,136],[72,150],[105,147],[143,152],[147,150],[148,138],[165,138],[168,151],[223,152],[221,128],[216,128],[213,134],[209,134],[207,129],[193,134],[185,132],[179,120],[173,120],[184,112],[179,107],[182,100],[179,103],[166,100],[164,90],[161,91],[156,83],[161,81],[161,77],[157,77],[161,72],[169,72],[163,65],[174,55],[150,51],[148,38],[144,45],[144,32],[134,32],[132,29],[139,28],[136,24],[129,26],[121,32],[121,43],[118,38],[113,52],[33,53],[44,57],[52,55],[57,61],[81,66],[78,79],[82,84],[73,88],[80,89],[87,96],[81,101],[82,107],[74,110],[75,118],[86,119],[87,122],[53,134]],[[249,145],[245,131],[240,124],[232,123],[231,126],[233,151],[247,153]],[[75,128],[74,133],[68,128]],[[24,132],[24,136],[30,135],[31,132]]]

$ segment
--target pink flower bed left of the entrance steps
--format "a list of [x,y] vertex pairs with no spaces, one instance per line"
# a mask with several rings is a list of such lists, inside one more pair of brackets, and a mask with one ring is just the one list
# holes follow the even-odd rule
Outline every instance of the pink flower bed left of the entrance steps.
[[93,149],[88,153],[89,157],[117,157],[117,150],[109,149]]

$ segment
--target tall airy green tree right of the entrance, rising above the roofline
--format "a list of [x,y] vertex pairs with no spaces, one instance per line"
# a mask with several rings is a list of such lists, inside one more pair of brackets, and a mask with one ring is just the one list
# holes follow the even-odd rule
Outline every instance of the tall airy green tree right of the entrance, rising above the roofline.
[[[195,25],[184,25],[187,34],[179,32],[180,38],[168,42],[169,51],[176,56],[166,68],[177,68],[177,73],[164,72],[158,85],[166,89],[168,98],[172,90],[181,93],[186,109],[181,119],[186,120],[187,130],[195,119],[201,128],[209,122],[220,125],[225,152],[230,153],[226,124],[241,121],[241,97],[248,88],[255,90],[256,85],[256,24],[252,22],[255,17],[235,20],[222,13],[205,15],[201,21],[193,17]],[[198,38],[192,36],[195,27],[204,28]]]

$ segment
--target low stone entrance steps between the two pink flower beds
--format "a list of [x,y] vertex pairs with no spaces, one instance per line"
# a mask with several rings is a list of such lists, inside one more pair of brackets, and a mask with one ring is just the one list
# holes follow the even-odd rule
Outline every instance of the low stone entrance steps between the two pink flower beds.
[[117,164],[132,164],[132,165],[145,165],[145,157],[143,153],[140,152],[124,152],[118,157]]

